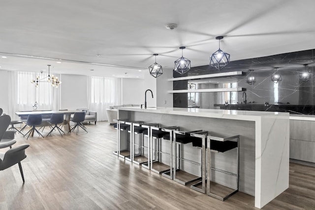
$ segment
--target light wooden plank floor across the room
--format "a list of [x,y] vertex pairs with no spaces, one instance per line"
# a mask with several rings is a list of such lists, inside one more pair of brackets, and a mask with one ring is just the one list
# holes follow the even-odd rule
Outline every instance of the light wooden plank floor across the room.
[[[63,137],[56,131],[29,140],[22,161],[0,172],[0,210],[252,210],[254,197],[236,193],[224,202],[168,180],[112,154],[116,130],[108,122],[88,124]],[[46,134],[46,135],[45,135]],[[5,151],[5,150],[0,150]],[[315,209],[315,168],[290,163],[290,187],[266,210]]]

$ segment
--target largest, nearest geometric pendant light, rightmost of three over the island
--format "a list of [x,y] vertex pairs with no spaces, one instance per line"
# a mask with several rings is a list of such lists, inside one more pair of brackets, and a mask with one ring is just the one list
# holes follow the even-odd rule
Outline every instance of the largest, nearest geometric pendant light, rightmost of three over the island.
[[220,40],[223,39],[223,36],[217,36],[216,39],[219,39],[219,50],[214,52],[210,58],[210,65],[214,66],[216,69],[221,70],[230,62],[230,54],[225,53],[220,49]]

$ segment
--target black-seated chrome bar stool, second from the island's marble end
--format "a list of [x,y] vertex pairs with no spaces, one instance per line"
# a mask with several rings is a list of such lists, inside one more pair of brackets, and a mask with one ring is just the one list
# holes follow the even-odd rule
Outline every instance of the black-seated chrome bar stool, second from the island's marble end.
[[[206,148],[207,148],[207,135],[208,131],[200,131],[196,133],[190,133],[191,137],[199,138],[199,140],[195,140],[192,142],[192,147],[196,147],[201,149],[201,181],[192,184],[190,186],[191,189],[194,189],[198,192],[205,193],[206,192],[206,177],[207,177],[207,168],[206,168]],[[200,188],[201,186],[201,188]]]

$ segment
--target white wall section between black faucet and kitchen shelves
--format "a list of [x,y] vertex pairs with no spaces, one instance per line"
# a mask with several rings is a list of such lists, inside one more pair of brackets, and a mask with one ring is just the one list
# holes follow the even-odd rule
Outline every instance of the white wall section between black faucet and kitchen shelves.
[[173,94],[167,90],[173,90],[173,82],[167,79],[173,78],[173,69],[163,69],[163,74],[157,78],[157,106],[173,107]]

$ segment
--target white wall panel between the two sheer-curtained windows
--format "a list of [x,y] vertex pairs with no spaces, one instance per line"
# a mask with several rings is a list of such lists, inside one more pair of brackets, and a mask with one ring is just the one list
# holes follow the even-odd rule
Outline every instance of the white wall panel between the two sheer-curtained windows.
[[88,77],[82,75],[63,74],[60,109],[75,110],[88,107]]

